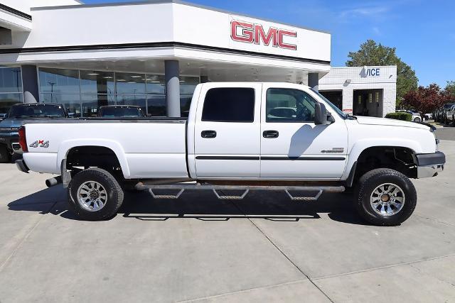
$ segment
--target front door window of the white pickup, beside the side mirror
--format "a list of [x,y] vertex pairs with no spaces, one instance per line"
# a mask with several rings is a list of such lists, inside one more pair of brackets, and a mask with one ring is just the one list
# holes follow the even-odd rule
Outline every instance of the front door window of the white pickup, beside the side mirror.
[[313,122],[316,101],[299,89],[267,89],[267,122]]

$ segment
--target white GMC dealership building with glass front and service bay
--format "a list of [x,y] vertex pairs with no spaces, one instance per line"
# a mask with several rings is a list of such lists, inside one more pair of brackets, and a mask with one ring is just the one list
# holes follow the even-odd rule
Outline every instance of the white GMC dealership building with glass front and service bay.
[[331,35],[178,0],[0,4],[0,114],[65,104],[72,116],[132,104],[185,116],[202,82],[309,85],[348,113],[395,111],[397,69],[331,67]]

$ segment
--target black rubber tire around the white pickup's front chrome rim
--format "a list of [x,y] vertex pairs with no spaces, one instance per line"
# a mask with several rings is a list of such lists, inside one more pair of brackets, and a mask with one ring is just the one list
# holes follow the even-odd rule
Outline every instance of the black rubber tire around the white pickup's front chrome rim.
[[[390,216],[378,214],[370,202],[375,189],[387,183],[396,184],[405,195],[405,201],[400,211]],[[387,168],[371,170],[360,177],[354,197],[360,216],[368,223],[376,226],[397,226],[402,224],[411,216],[417,204],[417,192],[411,180],[401,172]]]

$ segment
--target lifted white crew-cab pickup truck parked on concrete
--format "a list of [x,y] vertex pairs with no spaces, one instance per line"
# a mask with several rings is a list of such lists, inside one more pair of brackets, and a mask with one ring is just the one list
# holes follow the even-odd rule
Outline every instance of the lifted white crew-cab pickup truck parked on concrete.
[[[70,209],[87,220],[113,216],[132,186],[155,198],[178,198],[185,189],[210,189],[220,199],[283,190],[295,201],[352,187],[360,215],[391,226],[416,206],[409,178],[444,169],[434,129],[348,116],[299,84],[205,83],[196,87],[188,119],[28,123],[19,131],[24,153],[16,164],[60,175],[48,186],[63,182]],[[232,189],[243,194],[220,194]]]

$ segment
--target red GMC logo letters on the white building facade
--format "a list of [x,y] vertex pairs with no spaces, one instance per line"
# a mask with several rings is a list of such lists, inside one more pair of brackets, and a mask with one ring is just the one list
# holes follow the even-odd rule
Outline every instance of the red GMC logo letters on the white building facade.
[[264,28],[260,24],[247,23],[242,21],[231,21],[230,37],[234,41],[264,44],[266,46],[272,43],[274,48],[284,48],[286,50],[297,50],[297,45],[284,42],[285,37],[297,36],[295,31],[280,30],[278,28],[269,28],[265,33]]

